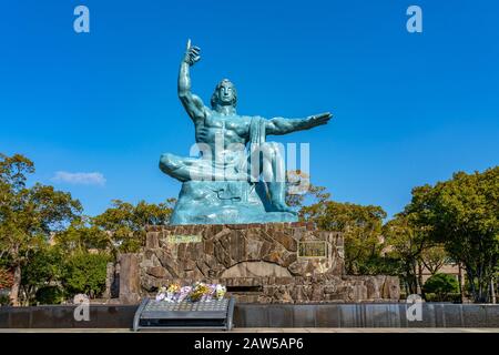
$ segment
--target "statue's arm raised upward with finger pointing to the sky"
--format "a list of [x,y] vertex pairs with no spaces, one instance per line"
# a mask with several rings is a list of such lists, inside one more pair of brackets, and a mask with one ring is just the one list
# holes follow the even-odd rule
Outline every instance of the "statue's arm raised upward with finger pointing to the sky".
[[191,47],[191,40],[189,40],[179,71],[179,99],[194,121],[203,119],[206,110],[203,101],[191,92],[191,74],[189,73],[190,67],[201,59],[200,51],[198,47]]

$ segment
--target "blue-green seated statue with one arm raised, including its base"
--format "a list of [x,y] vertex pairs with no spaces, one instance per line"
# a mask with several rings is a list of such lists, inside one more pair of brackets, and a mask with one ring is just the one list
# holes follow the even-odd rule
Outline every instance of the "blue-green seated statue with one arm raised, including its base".
[[179,98],[194,123],[200,155],[161,155],[160,169],[183,183],[170,223],[296,222],[296,212],[285,202],[284,146],[266,138],[326,124],[332,114],[302,119],[237,114],[237,92],[227,79],[216,85],[208,108],[191,92],[190,67],[198,60],[200,48],[189,41],[180,67]]

